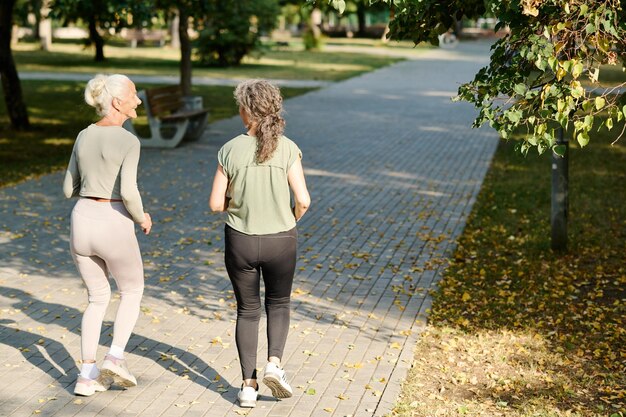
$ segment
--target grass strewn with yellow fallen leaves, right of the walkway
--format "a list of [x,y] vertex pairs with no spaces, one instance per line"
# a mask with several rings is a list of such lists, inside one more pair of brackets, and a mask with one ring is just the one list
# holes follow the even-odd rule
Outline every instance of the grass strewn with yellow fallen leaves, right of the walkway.
[[565,254],[550,250],[549,155],[500,144],[393,416],[626,415],[626,141],[612,140],[572,144]]

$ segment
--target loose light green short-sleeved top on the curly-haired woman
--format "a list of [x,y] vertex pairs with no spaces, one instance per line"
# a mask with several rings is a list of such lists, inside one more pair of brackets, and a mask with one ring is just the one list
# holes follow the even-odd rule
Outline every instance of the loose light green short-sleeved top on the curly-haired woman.
[[298,146],[285,136],[278,140],[272,157],[255,161],[256,138],[239,135],[228,141],[217,154],[228,177],[226,224],[249,235],[267,235],[293,229],[287,172],[302,158]]

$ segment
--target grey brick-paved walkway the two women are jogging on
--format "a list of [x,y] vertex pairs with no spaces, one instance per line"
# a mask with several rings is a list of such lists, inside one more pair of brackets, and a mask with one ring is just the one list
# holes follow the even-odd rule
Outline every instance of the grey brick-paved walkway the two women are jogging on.
[[276,401],[262,387],[251,411],[235,400],[223,217],[207,207],[216,152],[242,131],[239,120],[211,125],[200,142],[142,153],[140,186],[156,224],[140,238],[147,286],[128,346],[139,386],[127,391],[71,394],[86,296],[68,253],[73,203],[62,198],[62,173],[0,189],[0,415],[388,413],[413,360],[427,293],[497,144],[488,128],[469,128],[469,105],[450,101],[487,54],[482,43],[432,50],[286,102],[287,134],[302,148],[313,198],[299,224],[284,358],[295,394]]

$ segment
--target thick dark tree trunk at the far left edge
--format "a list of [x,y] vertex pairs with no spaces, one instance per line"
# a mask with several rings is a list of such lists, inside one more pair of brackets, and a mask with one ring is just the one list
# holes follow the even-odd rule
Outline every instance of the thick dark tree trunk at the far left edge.
[[0,78],[11,126],[16,130],[25,130],[30,127],[28,111],[22,98],[22,86],[11,52],[14,5],[15,0],[0,1]]

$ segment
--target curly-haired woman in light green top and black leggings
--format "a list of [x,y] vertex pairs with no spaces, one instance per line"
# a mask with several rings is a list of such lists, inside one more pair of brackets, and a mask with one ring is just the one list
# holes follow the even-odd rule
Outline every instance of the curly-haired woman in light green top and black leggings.
[[238,399],[241,407],[254,407],[261,276],[268,338],[263,383],[276,398],[292,396],[281,358],[289,332],[296,221],[307,211],[311,199],[302,153],[283,136],[280,90],[264,80],[248,80],[235,89],[235,100],[247,132],[220,149],[209,205],[213,211],[228,213],[225,263],[237,299],[235,340],[243,374]]

